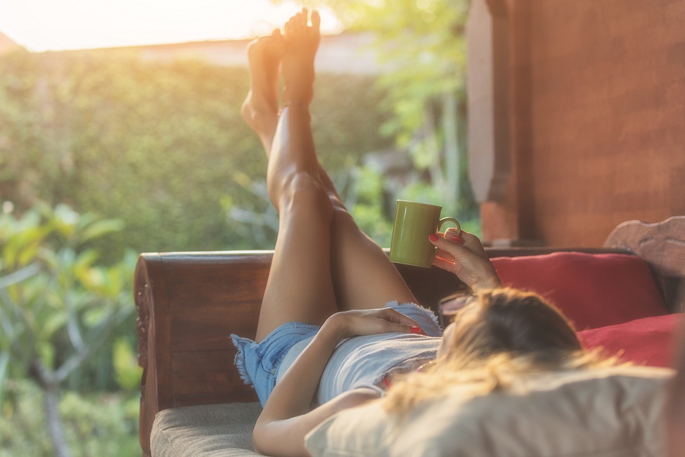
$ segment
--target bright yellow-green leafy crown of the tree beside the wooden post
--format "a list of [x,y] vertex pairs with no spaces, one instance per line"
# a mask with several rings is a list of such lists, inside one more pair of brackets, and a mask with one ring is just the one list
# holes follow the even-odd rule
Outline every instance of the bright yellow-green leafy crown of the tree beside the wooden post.
[[327,5],[352,30],[373,32],[380,58],[392,68],[380,84],[392,109],[385,131],[404,144],[423,123],[426,101],[448,92],[463,96],[468,0],[310,0]]

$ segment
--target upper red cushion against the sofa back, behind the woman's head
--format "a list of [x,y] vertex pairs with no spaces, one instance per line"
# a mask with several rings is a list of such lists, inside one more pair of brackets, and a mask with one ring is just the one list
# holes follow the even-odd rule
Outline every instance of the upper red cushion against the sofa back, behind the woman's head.
[[667,314],[649,265],[634,255],[554,252],[492,263],[504,285],[539,293],[577,330]]

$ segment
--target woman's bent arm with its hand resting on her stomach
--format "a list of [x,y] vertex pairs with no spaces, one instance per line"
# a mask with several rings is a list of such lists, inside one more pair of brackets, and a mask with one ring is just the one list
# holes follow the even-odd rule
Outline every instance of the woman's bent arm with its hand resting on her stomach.
[[278,456],[306,455],[305,435],[345,408],[378,398],[371,389],[356,389],[309,411],[326,363],[340,340],[374,333],[409,333],[416,322],[394,309],[333,314],[276,384],[252,434],[255,450]]

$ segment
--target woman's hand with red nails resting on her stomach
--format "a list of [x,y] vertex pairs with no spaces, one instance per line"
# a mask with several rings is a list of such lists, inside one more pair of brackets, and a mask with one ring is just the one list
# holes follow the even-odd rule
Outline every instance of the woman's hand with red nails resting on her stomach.
[[340,311],[328,318],[326,323],[337,328],[340,339],[378,333],[422,332],[414,319],[392,308]]

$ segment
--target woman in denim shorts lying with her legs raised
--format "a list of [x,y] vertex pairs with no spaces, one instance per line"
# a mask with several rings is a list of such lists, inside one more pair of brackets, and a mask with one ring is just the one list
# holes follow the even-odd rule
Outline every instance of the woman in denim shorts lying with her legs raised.
[[[438,248],[434,264],[468,285],[473,303],[444,336],[435,315],[416,304],[383,250],[354,223],[316,157],[308,108],[319,24],[316,12],[310,24],[303,10],[283,34],[276,30],[248,49],[243,117],[267,151],[267,188],[280,225],[256,341],[232,336],[236,365],[264,405],[255,449],[269,455],[306,454],[304,437],[313,427],[385,390],[389,407],[411,407],[428,397],[417,385],[459,380],[493,354],[513,354],[526,368],[579,360],[580,343],[568,322],[536,295],[502,289],[470,233],[448,229],[430,243]],[[397,380],[397,373],[416,369]]]

